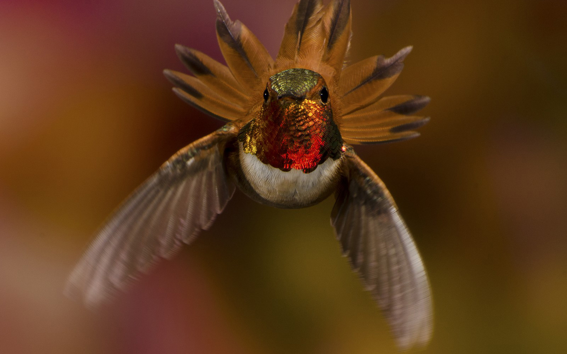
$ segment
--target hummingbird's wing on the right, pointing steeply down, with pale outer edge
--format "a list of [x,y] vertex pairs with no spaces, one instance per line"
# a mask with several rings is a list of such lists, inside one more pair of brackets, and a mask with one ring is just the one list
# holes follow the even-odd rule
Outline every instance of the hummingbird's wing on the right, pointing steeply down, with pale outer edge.
[[422,346],[431,337],[433,315],[421,257],[383,182],[352,148],[345,157],[349,177],[331,216],[337,238],[399,346]]

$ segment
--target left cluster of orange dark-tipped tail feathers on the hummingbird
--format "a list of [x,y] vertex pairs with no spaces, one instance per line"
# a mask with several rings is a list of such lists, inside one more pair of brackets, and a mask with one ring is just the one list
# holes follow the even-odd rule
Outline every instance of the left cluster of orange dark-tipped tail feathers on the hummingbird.
[[274,62],[244,24],[232,21],[218,0],[214,6],[217,39],[227,66],[177,44],[177,55],[194,76],[172,70],[164,70],[164,75],[182,100],[222,121],[233,121],[246,117],[257,104]]

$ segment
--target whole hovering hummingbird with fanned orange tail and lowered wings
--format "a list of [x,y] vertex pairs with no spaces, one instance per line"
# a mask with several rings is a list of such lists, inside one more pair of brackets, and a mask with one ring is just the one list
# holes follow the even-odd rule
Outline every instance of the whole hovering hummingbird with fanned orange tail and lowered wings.
[[345,65],[349,0],[301,0],[273,59],[214,0],[226,66],[176,45],[192,75],[164,70],[173,91],[225,122],[182,148],[138,187],[103,226],[66,291],[96,306],[208,229],[236,188],[277,208],[304,208],[335,195],[331,224],[342,253],[391,326],[401,349],[424,346],[433,329],[424,264],[390,192],[355,144],[417,137],[426,96],[383,96],[412,47]]

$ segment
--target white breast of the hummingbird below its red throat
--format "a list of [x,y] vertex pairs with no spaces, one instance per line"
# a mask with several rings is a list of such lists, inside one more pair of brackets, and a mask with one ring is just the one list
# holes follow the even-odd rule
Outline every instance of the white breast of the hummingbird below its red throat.
[[340,159],[327,159],[310,173],[298,169],[284,172],[244,152],[242,143],[239,150],[240,164],[249,184],[260,197],[278,204],[314,202],[335,181],[340,167]]

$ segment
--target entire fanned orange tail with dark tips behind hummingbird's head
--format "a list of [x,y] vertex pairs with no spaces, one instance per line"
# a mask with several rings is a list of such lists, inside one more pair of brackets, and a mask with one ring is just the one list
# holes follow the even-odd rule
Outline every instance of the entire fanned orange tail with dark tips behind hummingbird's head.
[[227,66],[194,49],[176,45],[194,76],[166,70],[174,92],[187,103],[223,121],[252,117],[270,75],[301,67],[319,72],[334,96],[335,121],[350,144],[404,140],[429,118],[413,113],[429,103],[425,96],[381,97],[396,80],[411,52],[374,56],[343,67],[352,34],[350,0],[300,0],[285,26],[276,61],[240,21],[232,21],[214,0],[217,39]]

